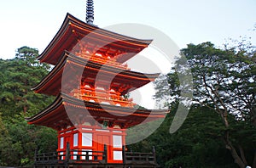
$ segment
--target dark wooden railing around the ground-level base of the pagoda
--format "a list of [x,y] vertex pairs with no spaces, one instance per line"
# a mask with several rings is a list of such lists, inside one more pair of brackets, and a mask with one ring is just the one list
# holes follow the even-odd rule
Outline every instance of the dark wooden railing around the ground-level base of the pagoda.
[[[123,146],[122,163],[108,163],[107,146],[103,151],[85,151],[82,149],[35,154],[34,167],[79,167],[81,165],[96,167],[157,167],[154,148],[151,153],[126,152]],[[72,165],[72,166],[69,166]]]

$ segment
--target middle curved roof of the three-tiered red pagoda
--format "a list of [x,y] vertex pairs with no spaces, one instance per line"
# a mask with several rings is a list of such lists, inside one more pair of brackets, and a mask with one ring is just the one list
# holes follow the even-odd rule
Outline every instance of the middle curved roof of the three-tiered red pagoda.
[[144,74],[131,70],[123,70],[108,64],[80,58],[73,53],[65,52],[55,68],[44,77],[32,90],[38,93],[57,96],[60,92],[71,92],[79,88],[81,81],[90,80],[92,85],[97,81],[107,81],[109,87],[125,95],[150,81],[160,74]]

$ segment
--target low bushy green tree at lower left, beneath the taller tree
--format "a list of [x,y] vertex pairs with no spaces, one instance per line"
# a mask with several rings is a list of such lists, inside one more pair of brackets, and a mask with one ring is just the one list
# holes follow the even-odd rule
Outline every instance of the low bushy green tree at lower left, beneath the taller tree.
[[56,132],[46,127],[28,125],[24,115],[15,115],[12,120],[6,120],[3,126],[5,132],[0,138],[0,165],[32,166],[36,149],[38,152],[56,149]]

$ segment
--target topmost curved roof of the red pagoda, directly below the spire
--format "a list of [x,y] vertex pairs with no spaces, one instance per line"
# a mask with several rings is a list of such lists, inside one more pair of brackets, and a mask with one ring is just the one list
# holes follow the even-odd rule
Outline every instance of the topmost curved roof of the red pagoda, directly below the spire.
[[[90,34],[90,36],[88,36]],[[106,51],[106,48],[119,49],[122,54],[117,54],[115,59],[119,63],[124,63],[134,55],[147,48],[152,40],[142,40],[130,36],[120,35],[118,33],[107,31],[89,25],[84,21],[78,20],[73,15],[68,14],[63,21],[60,30],[54,36],[44,52],[38,56],[41,62],[57,64],[61,59],[62,53],[71,51],[86,36],[86,42],[92,45],[96,51]],[[102,49],[104,48],[104,49]]]

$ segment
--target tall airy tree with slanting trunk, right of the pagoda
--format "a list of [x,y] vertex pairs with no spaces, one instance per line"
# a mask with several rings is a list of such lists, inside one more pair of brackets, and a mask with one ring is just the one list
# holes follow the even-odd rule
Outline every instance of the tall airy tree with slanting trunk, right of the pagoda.
[[[187,72],[181,67],[183,66],[181,63],[187,61],[194,80],[194,104],[214,110],[222,119],[225,126],[223,130],[224,144],[230,150],[235,163],[242,168],[247,163],[251,163],[253,168],[256,167],[256,154],[254,161],[250,156],[246,156],[241,138],[238,140],[239,135],[235,136],[233,130],[235,127],[237,129],[239,125],[251,132],[256,126],[255,51],[243,43],[235,48],[219,49],[215,48],[211,42],[204,42],[199,45],[189,44],[188,48],[182,49],[181,52],[183,56],[177,59],[176,69],[173,68],[165,76],[168,88],[158,92],[156,98],[160,99],[169,94],[172,100],[174,98],[173,102],[181,99],[178,92],[183,89],[183,86],[179,85],[177,74]],[[161,87],[160,81],[157,81],[156,84],[157,88]],[[163,95],[162,92],[164,92]],[[230,115],[234,117],[230,117]],[[236,123],[236,126],[231,123]],[[236,131],[238,132],[238,130]],[[247,135],[242,141],[252,144],[255,142],[254,138],[255,135]],[[255,145],[252,148],[255,151]]]

